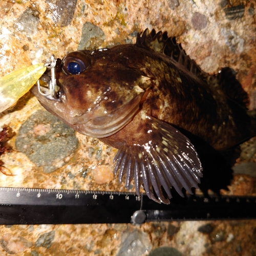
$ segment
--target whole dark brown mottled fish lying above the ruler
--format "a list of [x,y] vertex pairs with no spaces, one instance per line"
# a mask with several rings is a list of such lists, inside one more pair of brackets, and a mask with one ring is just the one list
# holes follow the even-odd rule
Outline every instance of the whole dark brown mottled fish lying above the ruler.
[[134,180],[138,196],[142,187],[158,203],[198,188],[204,167],[194,138],[223,151],[256,132],[236,74],[203,72],[166,32],[146,29],[135,44],[68,53],[57,60],[56,86],[50,98],[31,92],[77,132],[117,148],[119,181],[129,189]]

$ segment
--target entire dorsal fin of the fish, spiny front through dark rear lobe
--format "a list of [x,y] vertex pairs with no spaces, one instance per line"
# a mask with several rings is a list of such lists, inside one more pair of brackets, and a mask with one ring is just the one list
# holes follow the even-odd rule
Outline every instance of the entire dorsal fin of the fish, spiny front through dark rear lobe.
[[223,68],[217,75],[208,75],[190,59],[182,49],[181,44],[177,44],[175,37],[168,37],[167,33],[144,30],[142,35],[137,35],[137,46],[146,47],[155,52],[169,56],[170,59],[182,66],[186,71],[201,78],[213,87],[221,88],[226,96],[246,109],[249,104],[247,93],[243,90],[240,82],[236,79],[236,74],[230,68]]

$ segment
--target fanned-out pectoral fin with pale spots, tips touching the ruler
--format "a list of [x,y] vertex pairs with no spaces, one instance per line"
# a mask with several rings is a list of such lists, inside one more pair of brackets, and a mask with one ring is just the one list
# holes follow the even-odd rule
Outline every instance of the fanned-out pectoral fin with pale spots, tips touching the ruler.
[[127,189],[134,179],[138,196],[143,184],[147,196],[159,203],[169,203],[172,186],[182,197],[182,187],[192,194],[191,187],[198,188],[202,177],[195,147],[174,126],[150,116],[144,121],[148,129],[141,140],[136,144],[124,142],[119,148],[114,159],[115,175],[119,171],[120,182],[126,175]]

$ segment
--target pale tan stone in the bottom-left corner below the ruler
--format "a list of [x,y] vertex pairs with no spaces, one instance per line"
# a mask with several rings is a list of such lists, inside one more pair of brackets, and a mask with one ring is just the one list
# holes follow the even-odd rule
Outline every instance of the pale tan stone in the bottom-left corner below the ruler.
[[11,233],[6,233],[0,240],[0,245],[9,254],[22,253],[32,247],[33,243],[23,237],[15,237]]

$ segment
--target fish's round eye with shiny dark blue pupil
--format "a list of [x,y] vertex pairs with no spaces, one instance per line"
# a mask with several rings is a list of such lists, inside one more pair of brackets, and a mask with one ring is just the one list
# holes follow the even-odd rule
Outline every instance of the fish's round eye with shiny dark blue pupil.
[[62,59],[62,71],[66,75],[79,75],[90,65],[90,57],[82,51],[69,53]]

